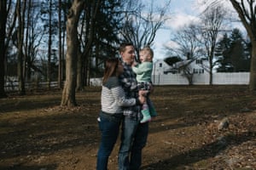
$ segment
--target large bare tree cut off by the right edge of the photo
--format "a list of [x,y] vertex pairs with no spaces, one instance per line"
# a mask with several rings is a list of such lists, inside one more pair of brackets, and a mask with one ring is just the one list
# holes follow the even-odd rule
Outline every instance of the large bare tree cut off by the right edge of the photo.
[[251,91],[256,90],[256,2],[254,0],[230,0],[236,9],[241,23],[247,30],[247,35],[252,43],[252,59],[250,70],[249,88]]

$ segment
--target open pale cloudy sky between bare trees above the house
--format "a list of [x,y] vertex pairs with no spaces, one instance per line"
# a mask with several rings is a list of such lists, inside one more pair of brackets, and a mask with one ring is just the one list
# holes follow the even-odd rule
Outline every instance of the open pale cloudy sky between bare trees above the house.
[[[162,3],[165,0],[159,0],[158,3]],[[157,31],[154,41],[154,60],[166,58],[166,52],[163,49],[165,44],[172,44],[172,33],[177,31],[178,28],[191,22],[191,20],[198,20],[198,16],[205,8],[201,5],[202,0],[172,0],[171,3],[171,19],[166,22],[166,29]],[[208,0],[207,3],[211,3],[212,0]],[[229,1],[224,1],[224,5],[232,10],[232,6]],[[237,23],[236,23],[237,24]],[[242,29],[242,26],[237,26]]]

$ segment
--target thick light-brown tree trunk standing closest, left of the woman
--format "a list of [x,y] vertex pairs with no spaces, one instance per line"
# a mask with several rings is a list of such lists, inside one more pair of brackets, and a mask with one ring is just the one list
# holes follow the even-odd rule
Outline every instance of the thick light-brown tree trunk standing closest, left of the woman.
[[79,16],[84,7],[84,1],[74,0],[67,14],[67,56],[66,56],[66,82],[62,92],[61,105],[68,107],[77,105],[75,88],[77,80],[77,47]]

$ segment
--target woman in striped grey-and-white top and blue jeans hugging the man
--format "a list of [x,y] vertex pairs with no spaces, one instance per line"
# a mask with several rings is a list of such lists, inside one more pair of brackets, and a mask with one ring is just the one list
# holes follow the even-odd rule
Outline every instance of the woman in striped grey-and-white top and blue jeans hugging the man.
[[102,141],[97,154],[97,170],[108,169],[110,156],[119,135],[119,125],[123,116],[123,106],[142,105],[145,98],[126,99],[124,89],[119,84],[119,75],[124,67],[117,58],[107,59],[102,79],[102,111],[98,118]]

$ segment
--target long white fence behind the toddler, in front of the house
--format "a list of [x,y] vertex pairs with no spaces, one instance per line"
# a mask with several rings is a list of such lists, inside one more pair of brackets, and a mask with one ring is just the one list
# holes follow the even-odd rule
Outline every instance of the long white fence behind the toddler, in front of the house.
[[[229,84],[248,84],[249,72],[232,72],[232,73],[213,73],[212,84],[229,85]],[[193,76],[193,84],[204,85],[209,84],[209,74],[195,74]],[[180,74],[153,75],[152,82],[155,85],[188,85],[186,77]]]

